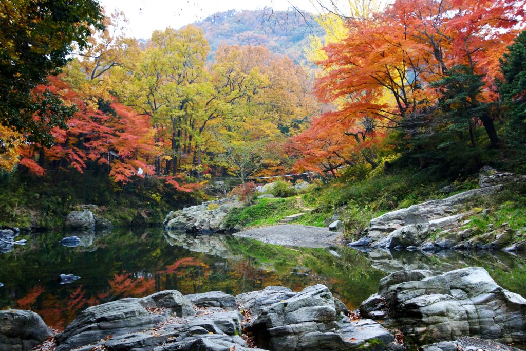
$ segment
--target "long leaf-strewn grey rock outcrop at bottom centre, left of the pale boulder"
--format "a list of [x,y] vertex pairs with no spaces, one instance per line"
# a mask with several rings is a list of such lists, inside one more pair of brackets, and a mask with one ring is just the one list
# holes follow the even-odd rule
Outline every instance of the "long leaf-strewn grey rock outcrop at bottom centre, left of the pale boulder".
[[[324,285],[269,286],[236,297],[175,290],[89,307],[55,337],[56,351],[395,350],[371,319],[350,320]],[[255,348],[261,347],[261,348]],[[394,348],[393,348],[394,347]]]

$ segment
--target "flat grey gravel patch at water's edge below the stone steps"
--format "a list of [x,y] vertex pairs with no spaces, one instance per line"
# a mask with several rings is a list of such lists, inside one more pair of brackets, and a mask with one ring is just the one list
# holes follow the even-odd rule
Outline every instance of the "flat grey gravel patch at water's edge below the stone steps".
[[242,230],[234,235],[259,240],[267,244],[297,247],[329,247],[335,245],[340,233],[319,227],[285,224]]

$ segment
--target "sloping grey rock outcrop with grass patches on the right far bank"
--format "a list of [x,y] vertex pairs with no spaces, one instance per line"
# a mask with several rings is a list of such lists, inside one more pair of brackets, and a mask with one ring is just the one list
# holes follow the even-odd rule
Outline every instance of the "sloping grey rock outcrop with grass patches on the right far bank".
[[[386,213],[370,221],[363,231],[367,239],[352,242],[349,246],[373,246],[381,249],[505,249],[509,252],[526,249],[526,236],[505,227],[488,228],[487,233],[475,235],[467,228],[467,219],[481,209],[466,210],[477,197],[500,192],[504,184],[525,180],[511,173],[497,172],[484,167],[480,173],[480,188],[430,200],[408,208]],[[469,207],[469,206],[468,206]]]

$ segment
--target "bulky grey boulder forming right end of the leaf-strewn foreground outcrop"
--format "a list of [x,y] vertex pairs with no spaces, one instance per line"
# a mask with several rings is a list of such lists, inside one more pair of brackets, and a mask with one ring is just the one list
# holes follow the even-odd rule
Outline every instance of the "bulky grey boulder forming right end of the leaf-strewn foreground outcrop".
[[[259,297],[245,295],[239,300],[268,303],[287,294],[274,288]],[[262,307],[251,330],[259,345],[270,350],[383,350],[393,341],[388,330],[373,320],[342,318],[338,305],[325,285],[310,286]]]

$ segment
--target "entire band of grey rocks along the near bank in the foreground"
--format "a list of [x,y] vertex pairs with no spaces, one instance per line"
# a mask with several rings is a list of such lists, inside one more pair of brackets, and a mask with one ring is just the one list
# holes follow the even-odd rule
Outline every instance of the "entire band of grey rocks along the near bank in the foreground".
[[[511,350],[495,343],[523,342],[525,321],[526,299],[498,286],[482,268],[438,276],[406,270],[381,279],[378,294],[359,313],[321,284],[301,292],[268,286],[237,296],[168,290],[89,307],[36,349],[397,351],[440,342],[424,349],[480,344]],[[28,350],[49,335],[32,312],[0,314],[0,351]]]

